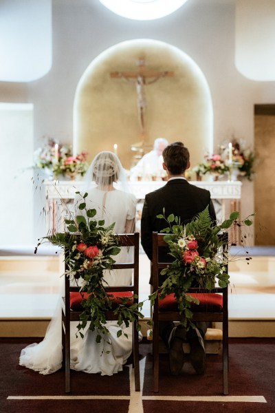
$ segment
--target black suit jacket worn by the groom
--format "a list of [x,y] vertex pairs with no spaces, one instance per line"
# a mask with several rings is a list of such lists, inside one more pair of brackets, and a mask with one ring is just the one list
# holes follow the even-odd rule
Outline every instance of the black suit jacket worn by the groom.
[[159,232],[168,226],[167,222],[157,218],[163,208],[166,218],[173,213],[180,218],[181,224],[187,224],[207,206],[210,217],[213,221],[216,220],[210,192],[181,178],[169,180],[164,187],[147,193],[142,211],[141,233],[142,246],[148,258],[152,260],[152,232]]

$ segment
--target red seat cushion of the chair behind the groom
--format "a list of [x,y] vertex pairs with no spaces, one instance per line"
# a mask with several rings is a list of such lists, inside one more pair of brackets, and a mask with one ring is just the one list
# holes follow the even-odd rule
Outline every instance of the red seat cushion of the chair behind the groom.
[[[192,312],[210,311],[221,312],[223,310],[223,296],[216,293],[191,293],[192,297],[199,299],[199,305],[191,303]],[[177,311],[177,300],[174,294],[168,294],[164,299],[159,299],[159,311]]]

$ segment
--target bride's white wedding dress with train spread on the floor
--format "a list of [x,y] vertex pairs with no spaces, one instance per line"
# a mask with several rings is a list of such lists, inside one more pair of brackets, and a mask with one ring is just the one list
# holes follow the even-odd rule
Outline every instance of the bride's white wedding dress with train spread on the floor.
[[[115,233],[125,232],[126,220],[135,218],[135,196],[118,190],[100,191],[91,189],[85,199],[87,209],[95,208],[97,220],[104,219],[105,226],[115,222]],[[82,212],[83,213],[83,212]],[[126,253],[126,251],[125,251]],[[122,262],[124,251],[115,257],[116,262]],[[114,271],[104,274],[104,280],[110,286],[131,284],[131,270]],[[61,300],[61,299],[60,299]],[[62,365],[61,344],[61,303],[58,302],[56,317],[52,319],[45,338],[41,343],[33,343],[21,351],[19,364],[39,371],[41,374],[56,372]],[[87,373],[112,375],[122,370],[132,350],[132,328],[125,328],[128,339],[116,333],[120,329],[115,321],[108,321],[109,336],[96,343],[97,332],[86,329],[84,338],[76,338],[76,324],[71,323],[71,368]]]

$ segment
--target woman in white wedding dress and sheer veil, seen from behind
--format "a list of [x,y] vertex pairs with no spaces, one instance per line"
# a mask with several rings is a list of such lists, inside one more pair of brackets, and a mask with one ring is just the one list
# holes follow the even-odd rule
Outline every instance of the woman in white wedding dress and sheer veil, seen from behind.
[[[84,177],[83,193],[87,192],[85,202],[87,209],[94,208],[96,220],[104,220],[109,226],[115,222],[115,233],[131,233],[135,227],[136,199],[130,193],[126,174],[118,156],[109,151],[98,153]],[[82,198],[81,198],[82,199]],[[80,196],[76,196],[77,209]],[[83,211],[77,211],[77,214]],[[126,251],[121,251],[115,257],[116,262],[122,262]],[[111,271],[104,273],[104,281],[109,286],[131,284],[131,270]],[[129,358],[132,350],[132,329],[124,328],[128,339],[124,335],[116,335],[118,324],[108,321],[107,328],[110,334],[100,343],[96,343],[97,332],[86,329],[84,338],[76,337],[76,324],[71,323],[71,368],[87,373],[101,373],[111,375],[122,370],[123,364]],[[127,330],[127,331],[126,331]],[[56,317],[47,328],[46,335],[41,343],[33,343],[21,351],[19,364],[41,374],[56,372],[62,366],[61,344],[61,303],[56,308]]]

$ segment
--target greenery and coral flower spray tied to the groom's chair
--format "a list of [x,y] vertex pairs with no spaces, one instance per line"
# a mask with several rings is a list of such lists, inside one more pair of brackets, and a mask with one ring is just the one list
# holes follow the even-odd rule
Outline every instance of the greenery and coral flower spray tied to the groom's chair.
[[182,317],[181,324],[187,328],[195,327],[190,306],[192,302],[199,304],[199,299],[188,295],[188,289],[197,286],[212,290],[216,283],[220,287],[229,284],[230,277],[225,271],[229,257],[225,245],[227,242],[218,235],[228,232],[232,226],[250,226],[252,220],[248,217],[239,221],[239,212],[234,211],[228,220],[219,225],[214,224],[208,207],[186,225],[181,225],[179,218],[173,214],[166,218],[165,209],[157,218],[165,220],[168,224],[161,232],[166,234],[164,241],[167,243],[172,263],[161,271],[160,275],[164,275],[165,280],[159,290],[149,296],[151,305],[157,294],[160,299],[168,294],[174,294]]

